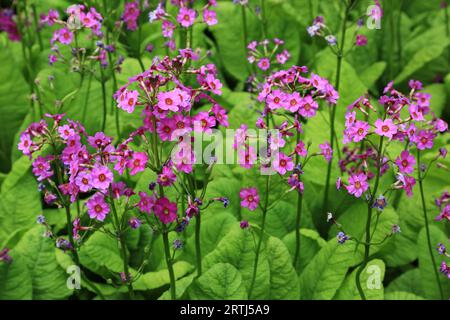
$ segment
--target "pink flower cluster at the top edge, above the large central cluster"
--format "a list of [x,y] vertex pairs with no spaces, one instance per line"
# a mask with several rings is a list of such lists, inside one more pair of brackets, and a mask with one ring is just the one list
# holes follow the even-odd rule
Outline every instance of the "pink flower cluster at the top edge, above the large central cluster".
[[[160,2],[154,11],[149,13],[149,21],[161,21],[162,35],[167,39],[165,45],[170,50],[176,49],[174,40],[174,32],[177,28],[187,29],[191,28],[197,20],[198,12],[191,7],[191,0],[176,0],[171,1],[171,4],[178,8],[178,13],[173,16],[166,10],[165,4]],[[208,26],[217,24],[217,14],[211,7],[217,6],[216,0],[208,0],[206,5],[202,8],[202,20]],[[189,47],[189,46],[188,46]],[[181,48],[180,48],[181,49]]]

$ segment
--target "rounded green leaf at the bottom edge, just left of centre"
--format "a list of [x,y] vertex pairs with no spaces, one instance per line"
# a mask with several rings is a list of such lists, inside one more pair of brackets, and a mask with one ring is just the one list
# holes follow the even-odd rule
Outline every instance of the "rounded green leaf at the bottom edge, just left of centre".
[[187,293],[193,300],[247,299],[241,274],[229,263],[213,265],[191,284]]

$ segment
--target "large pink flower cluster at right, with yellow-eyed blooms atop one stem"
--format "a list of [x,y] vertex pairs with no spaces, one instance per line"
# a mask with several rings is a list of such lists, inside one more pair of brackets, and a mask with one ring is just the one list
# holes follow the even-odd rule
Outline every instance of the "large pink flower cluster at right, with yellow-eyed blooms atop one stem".
[[[392,189],[404,189],[408,196],[412,196],[416,184],[413,173],[417,169],[412,149],[431,149],[437,135],[448,130],[447,124],[430,111],[430,95],[420,91],[422,84],[411,80],[409,86],[409,95],[404,95],[393,89],[390,82],[378,101],[382,110],[377,110],[366,97],[358,98],[348,107],[344,144],[355,143],[355,147],[344,147],[345,158],[339,164],[341,171],[349,174],[346,188],[355,197],[361,197],[368,190],[369,181],[376,176],[376,171],[379,176],[386,173],[389,164],[393,165],[397,174]],[[383,117],[379,118],[379,114]],[[431,119],[427,120],[425,116],[429,114]],[[358,115],[363,119],[358,119]],[[377,147],[376,137],[384,139],[388,145],[402,143],[405,148],[397,157],[390,158],[386,148]],[[437,157],[445,157],[445,154],[445,151],[440,151]],[[341,186],[339,180],[338,189]]]

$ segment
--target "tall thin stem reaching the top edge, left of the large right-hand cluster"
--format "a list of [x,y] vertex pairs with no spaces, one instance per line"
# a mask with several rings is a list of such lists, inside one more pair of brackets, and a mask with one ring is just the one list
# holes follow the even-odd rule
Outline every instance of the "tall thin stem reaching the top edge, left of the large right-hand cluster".
[[[341,67],[342,67],[342,59],[344,58],[344,45],[345,45],[345,33],[347,32],[347,20],[350,15],[350,10],[352,8],[353,4],[352,1],[350,1],[346,7],[345,7],[345,13],[344,13],[344,21],[342,22],[342,29],[341,29],[341,39],[339,44],[339,50],[337,54],[337,66],[336,66],[336,82],[335,82],[335,89],[336,91],[339,91],[339,84],[341,81]],[[335,119],[336,119],[336,106],[331,107],[331,114],[330,114],[330,146],[333,150],[334,148],[334,142],[335,142]],[[331,180],[331,167],[333,165],[333,158],[328,162],[327,167],[327,179],[325,182],[325,192],[323,196],[323,204],[322,204],[322,212],[326,213],[328,211],[328,197],[329,197],[329,189],[330,189],[330,180]]]

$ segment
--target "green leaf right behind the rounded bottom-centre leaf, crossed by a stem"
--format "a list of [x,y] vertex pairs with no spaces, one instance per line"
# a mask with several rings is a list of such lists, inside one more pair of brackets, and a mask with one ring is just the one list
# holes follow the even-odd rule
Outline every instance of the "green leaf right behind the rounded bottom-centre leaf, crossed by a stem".
[[[255,264],[255,251],[255,242],[251,230],[242,230],[239,226],[236,226],[219,242],[217,248],[203,259],[203,267],[206,271],[221,262],[233,265],[241,273],[248,291]],[[251,298],[265,299],[270,288],[270,270],[264,248],[261,248],[257,267]]]

